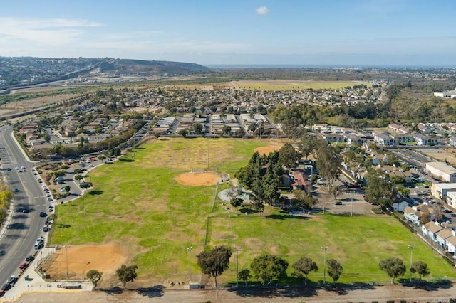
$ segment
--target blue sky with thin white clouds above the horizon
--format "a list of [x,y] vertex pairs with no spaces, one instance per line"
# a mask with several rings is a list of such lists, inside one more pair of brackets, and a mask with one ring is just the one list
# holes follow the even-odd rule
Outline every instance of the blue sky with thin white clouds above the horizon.
[[456,66],[455,0],[0,0],[0,56]]

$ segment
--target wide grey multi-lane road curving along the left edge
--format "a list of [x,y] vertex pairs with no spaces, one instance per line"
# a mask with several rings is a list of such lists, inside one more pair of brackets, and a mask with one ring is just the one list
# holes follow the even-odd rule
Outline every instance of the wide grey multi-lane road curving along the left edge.
[[[48,207],[41,184],[38,184],[36,176],[31,171],[34,166],[33,162],[28,161],[11,134],[11,126],[0,127],[1,178],[6,184],[6,188],[11,191],[13,188],[19,189],[19,192],[14,193],[11,220],[6,220],[6,229],[0,229],[1,285],[10,275],[17,276],[19,265],[25,262],[28,255],[34,255],[36,252],[33,244],[37,238],[41,237],[41,228],[46,221],[46,218],[39,216],[39,212],[47,213]],[[26,167],[26,171],[16,171],[15,168],[18,166]],[[24,208],[28,210],[28,213],[22,212]]]

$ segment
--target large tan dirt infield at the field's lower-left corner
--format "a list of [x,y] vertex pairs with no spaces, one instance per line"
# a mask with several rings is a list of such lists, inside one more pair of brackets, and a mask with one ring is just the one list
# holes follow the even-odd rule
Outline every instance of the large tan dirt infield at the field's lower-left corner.
[[72,280],[83,278],[89,270],[103,272],[108,278],[127,257],[118,243],[61,246],[43,265],[43,270],[53,280],[66,279],[67,266]]

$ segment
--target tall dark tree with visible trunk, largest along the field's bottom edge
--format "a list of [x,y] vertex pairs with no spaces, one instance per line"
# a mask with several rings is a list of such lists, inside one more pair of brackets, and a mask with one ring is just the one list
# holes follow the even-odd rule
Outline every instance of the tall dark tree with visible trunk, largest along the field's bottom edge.
[[201,271],[209,277],[214,277],[217,288],[217,277],[229,267],[229,258],[232,250],[227,246],[216,246],[209,252],[199,252],[198,265]]

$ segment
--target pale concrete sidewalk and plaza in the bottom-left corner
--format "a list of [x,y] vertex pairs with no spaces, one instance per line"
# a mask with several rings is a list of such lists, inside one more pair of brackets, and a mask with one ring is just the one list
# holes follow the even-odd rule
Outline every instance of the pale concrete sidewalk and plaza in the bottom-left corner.
[[[83,292],[91,291],[93,285],[90,281],[69,281],[66,282],[46,282],[35,271],[41,260],[46,259],[49,255],[55,252],[55,248],[43,248],[35,257],[35,260],[28,265],[27,270],[19,277],[16,284],[9,289],[4,297],[0,298],[0,302],[16,302],[23,294],[30,294],[32,292],[40,293],[69,293],[69,292]],[[28,279],[26,280],[26,277]],[[65,289],[58,287],[58,285],[81,285],[81,289]]]

